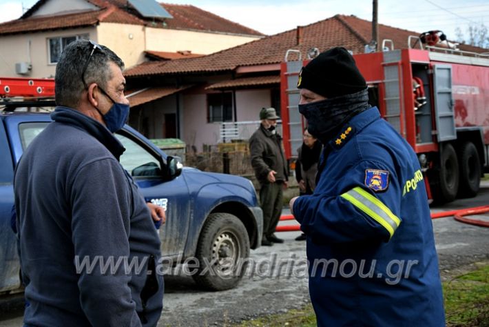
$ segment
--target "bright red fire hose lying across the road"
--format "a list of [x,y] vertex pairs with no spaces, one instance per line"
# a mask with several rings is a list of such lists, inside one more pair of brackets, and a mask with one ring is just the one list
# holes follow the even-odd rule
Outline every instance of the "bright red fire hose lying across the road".
[[[469,215],[481,215],[486,212],[489,212],[489,206],[479,206],[479,207],[459,209],[459,210],[434,212],[431,214],[431,219],[453,217],[455,220],[460,221],[461,223],[464,224],[489,227],[489,221],[482,221],[479,219],[470,219],[464,217]],[[287,221],[287,220],[294,220],[293,215],[282,215],[280,217],[280,221]],[[295,232],[299,230],[300,230],[300,225],[277,226],[277,228],[275,229],[276,232]]]

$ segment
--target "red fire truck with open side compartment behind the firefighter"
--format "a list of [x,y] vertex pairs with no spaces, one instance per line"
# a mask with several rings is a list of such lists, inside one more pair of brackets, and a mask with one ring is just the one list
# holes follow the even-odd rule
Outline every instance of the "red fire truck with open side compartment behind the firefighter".
[[[385,47],[382,47],[385,49]],[[289,50],[294,51],[294,50]],[[308,60],[281,65],[285,152],[302,144],[298,73]],[[353,56],[368,84],[369,101],[413,146],[428,197],[473,197],[488,168],[489,56],[435,46]]]

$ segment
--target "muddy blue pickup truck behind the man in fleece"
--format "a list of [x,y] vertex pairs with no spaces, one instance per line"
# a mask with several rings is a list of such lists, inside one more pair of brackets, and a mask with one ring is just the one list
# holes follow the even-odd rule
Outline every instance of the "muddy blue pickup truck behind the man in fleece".
[[[14,166],[48,123],[48,114],[0,111],[0,295],[21,291],[16,235],[10,227]],[[126,148],[122,166],[146,201],[166,210],[167,222],[159,229],[165,262],[197,259],[192,276],[198,285],[209,290],[236,286],[244,272],[240,259],[261,243],[262,211],[251,181],[182,168],[178,159],[129,126],[116,136]]]

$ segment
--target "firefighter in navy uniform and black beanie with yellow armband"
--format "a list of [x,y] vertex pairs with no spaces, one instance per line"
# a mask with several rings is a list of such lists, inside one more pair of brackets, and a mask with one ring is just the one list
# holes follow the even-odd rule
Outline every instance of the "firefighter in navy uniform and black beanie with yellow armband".
[[291,199],[307,235],[318,326],[445,326],[423,175],[409,144],[368,105],[344,48],[302,68],[299,110],[324,144],[313,195]]

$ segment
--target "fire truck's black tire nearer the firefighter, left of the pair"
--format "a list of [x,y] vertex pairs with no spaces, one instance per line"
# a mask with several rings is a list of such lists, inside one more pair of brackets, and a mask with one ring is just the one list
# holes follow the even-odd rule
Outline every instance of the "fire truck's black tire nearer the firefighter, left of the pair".
[[451,202],[459,190],[459,161],[450,143],[441,148],[439,167],[430,174],[430,188],[433,200],[438,204]]

